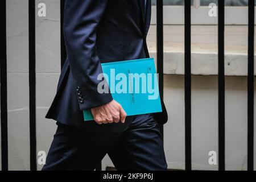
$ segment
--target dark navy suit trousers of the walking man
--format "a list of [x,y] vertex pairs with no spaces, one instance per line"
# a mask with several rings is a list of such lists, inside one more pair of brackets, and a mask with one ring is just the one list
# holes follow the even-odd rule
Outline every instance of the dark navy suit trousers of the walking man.
[[59,124],[49,149],[48,170],[93,170],[106,154],[118,170],[166,170],[159,125],[138,115],[122,133],[90,133]]

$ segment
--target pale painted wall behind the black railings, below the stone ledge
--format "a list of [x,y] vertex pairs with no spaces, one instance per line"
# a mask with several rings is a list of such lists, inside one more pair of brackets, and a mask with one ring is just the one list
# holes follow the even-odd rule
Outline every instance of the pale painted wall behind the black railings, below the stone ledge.
[[[59,0],[36,2],[45,2],[47,5],[47,17],[36,18],[37,150],[47,152],[56,130],[55,122],[45,119],[44,116],[55,96],[60,74],[60,7]],[[30,169],[27,6],[27,0],[7,1],[7,89],[9,168],[11,170]],[[154,32],[154,30],[152,31]],[[154,55],[155,53],[152,51],[152,56]],[[174,59],[175,57],[166,56],[164,61],[168,63]],[[215,170],[218,168],[218,166],[208,164],[208,152],[218,151],[217,98],[217,76],[192,77],[193,169]],[[182,75],[164,76],[164,100],[170,118],[167,125],[164,126],[164,148],[168,167],[184,169],[184,79]],[[246,77],[227,76],[227,169],[246,169],[246,131]],[[104,159],[103,166],[112,166],[107,157]],[[38,169],[41,168],[42,166],[38,166]]]

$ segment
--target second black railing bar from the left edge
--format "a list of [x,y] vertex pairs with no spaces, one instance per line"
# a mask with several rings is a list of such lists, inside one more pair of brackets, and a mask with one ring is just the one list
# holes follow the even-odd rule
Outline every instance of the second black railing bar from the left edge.
[[29,86],[30,86],[30,170],[36,171],[36,50],[35,0],[28,1]]

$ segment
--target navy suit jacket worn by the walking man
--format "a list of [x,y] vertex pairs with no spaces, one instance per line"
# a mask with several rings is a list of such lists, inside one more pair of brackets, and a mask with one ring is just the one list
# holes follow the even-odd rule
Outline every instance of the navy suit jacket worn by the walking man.
[[[97,76],[101,63],[149,57],[146,36],[150,27],[151,2],[148,0],[66,0],[64,39],[67,60],[57,93],[46,118],[65,125],[96,132],[121,132],[125,124],[97,125],[85,122],[82,110],[113,100],[110,93],[100,94]],[[167,112],[155,114],[159,123],[167,122]]]

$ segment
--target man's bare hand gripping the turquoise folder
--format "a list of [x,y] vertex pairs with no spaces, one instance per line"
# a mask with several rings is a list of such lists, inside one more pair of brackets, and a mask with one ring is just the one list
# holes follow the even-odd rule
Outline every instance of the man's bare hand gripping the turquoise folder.
[[99,125],[102,123],[125,123],[126,112],[123,110],[123,107],[116,101],[111,101],[108,104],[95,107],[91,109],[94,121]]

